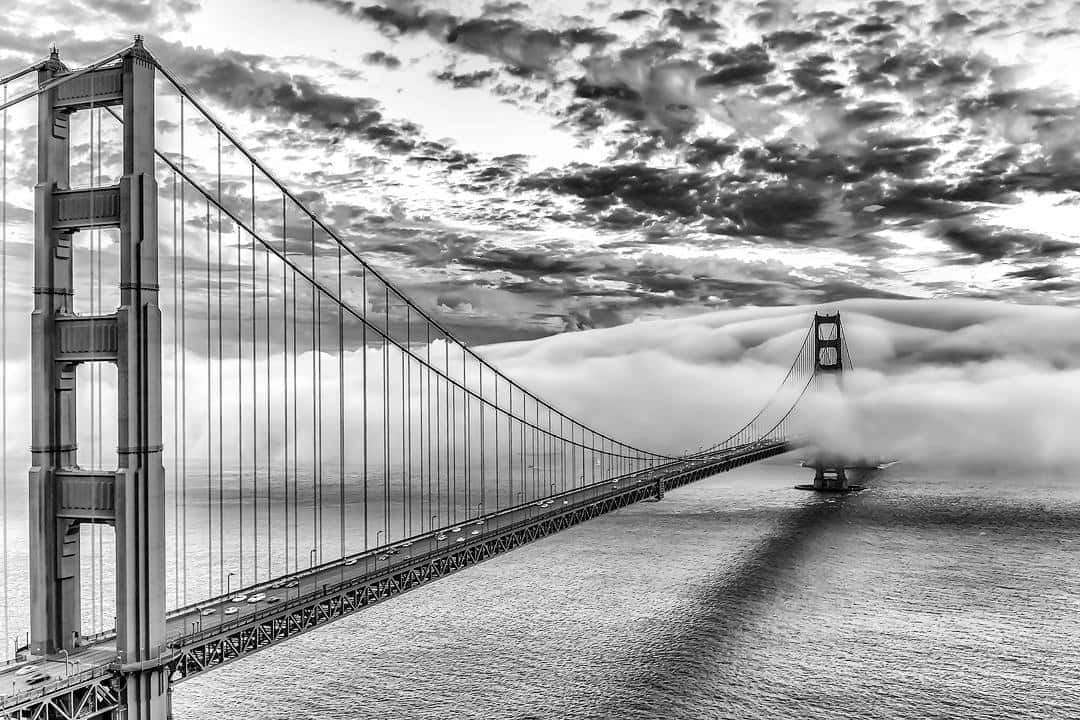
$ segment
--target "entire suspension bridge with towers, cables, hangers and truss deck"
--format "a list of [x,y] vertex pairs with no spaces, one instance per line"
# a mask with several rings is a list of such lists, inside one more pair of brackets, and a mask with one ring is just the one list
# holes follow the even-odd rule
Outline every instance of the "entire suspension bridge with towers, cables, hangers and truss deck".
[[138,38],[0,87],[4,717],[168,717],[186,678],[806,446],[851,369],[808,317],[743,426],[634,447],[395,288]]

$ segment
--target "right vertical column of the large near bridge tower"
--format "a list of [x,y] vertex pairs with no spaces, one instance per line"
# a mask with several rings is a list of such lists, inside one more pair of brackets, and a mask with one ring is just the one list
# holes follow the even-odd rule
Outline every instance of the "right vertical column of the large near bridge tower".
[[117,449],[117,653],[129,720],[164,720],[165,483],[161,460],[161,311],[154,68],[136,39],[123,58]]

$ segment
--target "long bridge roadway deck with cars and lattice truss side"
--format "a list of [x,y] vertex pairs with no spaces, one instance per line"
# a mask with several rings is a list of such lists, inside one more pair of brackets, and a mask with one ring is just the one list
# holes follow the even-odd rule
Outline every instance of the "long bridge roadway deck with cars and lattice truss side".
[[[174,611],[166,622],[173,678],[183,680],[203,673],[527,542],[656,498],[661,485],[664,491],[671,490],[794,447],[791,441],[755,443],[704,459],[638,471],[233,593],[266,594],[257,602],[218,597]],[[214,612],[203,615],[208,608]],[[227,608],[235,608],[235,612],[226,614]],[[71,653],[70,661],[64,656],[31,658],[0,668],[0,710],[9,717],[22,717],[24,711],[73,689],[94,689],[118,671],[114,642],[108,636]],[[53,679],[30,685],[25,676],[16,676],[18,668],[35,664]]]

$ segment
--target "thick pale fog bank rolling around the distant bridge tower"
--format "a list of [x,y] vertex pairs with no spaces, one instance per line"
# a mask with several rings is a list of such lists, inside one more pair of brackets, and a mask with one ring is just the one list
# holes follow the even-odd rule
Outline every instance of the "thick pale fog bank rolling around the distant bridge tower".
[[[774,390],[814,307],[744,309],[491,347],[488,356],[630,441],[697,448]],[[855,371],[809,396],[823,446],[926,464],[1080,461],[1080,311],[976,300],[850,300]]]

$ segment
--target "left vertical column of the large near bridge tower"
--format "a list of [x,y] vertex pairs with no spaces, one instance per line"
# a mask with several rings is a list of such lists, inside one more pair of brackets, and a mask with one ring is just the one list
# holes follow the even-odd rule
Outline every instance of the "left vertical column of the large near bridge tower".
[[[39,83],[66,68],[55,51]],[[35,187],[33,312],[30,317],[31,445],[29,474],[30,652],[71,649],[80,633],[79,522],[57,516],[57,478],[76,464],[75,366],[57,358],[57,318],[71,313],[71,231],[57,230],[55,193],[69,182],[70,113],[56,89],[38,98]]]

